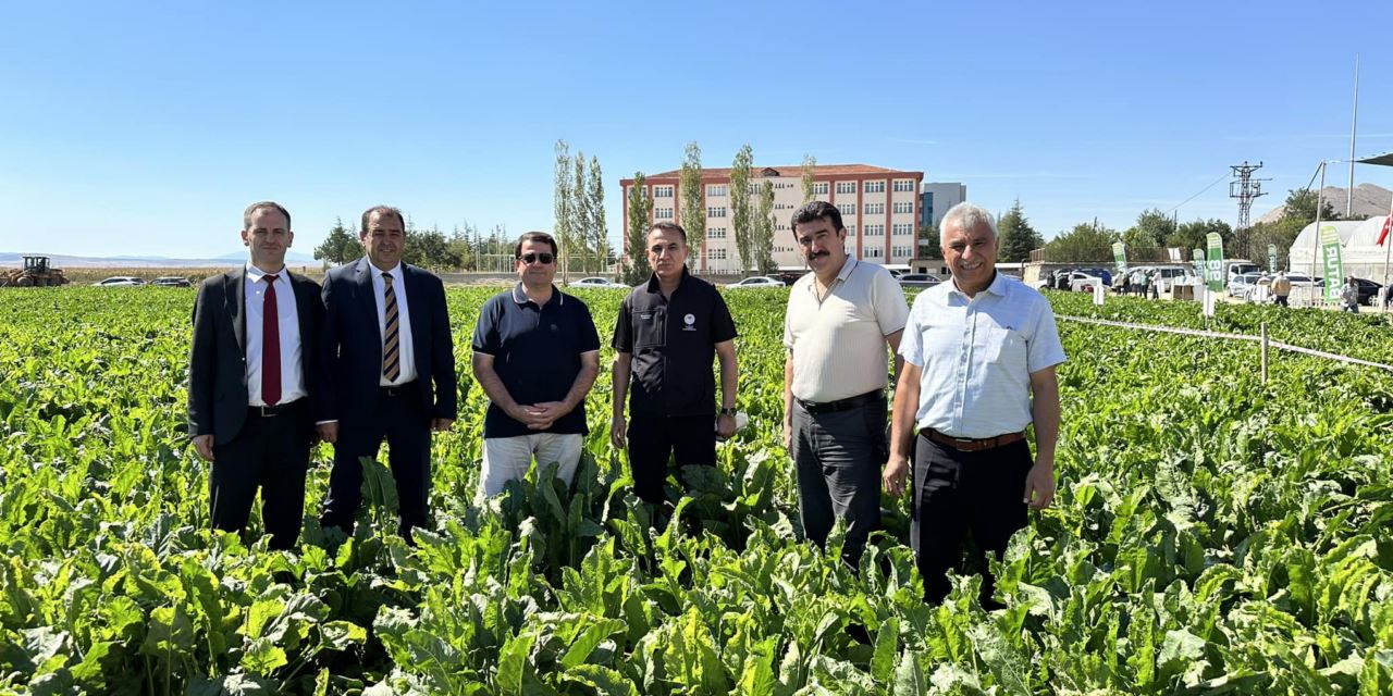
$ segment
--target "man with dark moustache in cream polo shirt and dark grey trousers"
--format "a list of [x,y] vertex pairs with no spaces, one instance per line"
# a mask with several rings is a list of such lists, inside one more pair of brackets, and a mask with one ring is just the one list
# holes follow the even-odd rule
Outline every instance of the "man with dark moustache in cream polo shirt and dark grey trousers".
[[790,227],[812,273],[793,285],[784,317],[784,445],[804,533],[823,546],[846,519],[843,558],[855,565],[880,523],[885,387],[910,309],[890,271],[847,255],[836,206],[814,200]]

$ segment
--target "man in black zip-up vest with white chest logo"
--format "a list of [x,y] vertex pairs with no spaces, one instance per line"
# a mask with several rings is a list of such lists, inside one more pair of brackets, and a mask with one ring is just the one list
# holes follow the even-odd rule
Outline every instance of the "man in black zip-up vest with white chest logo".
[[[678,469],[715,466],[716,437],[736,434],[736,322],[710,283],[687,273],[687,232],[673,223],[648,231],[653,276],[634,288],[614,323],[614,420],[610,440],[624,447],[634,493],[645,503],[664,498],[667,461]],[[710,361],[720,356],[720,418]],[[631,422],[625,432],[624,395]],[[716,427],[712,430],[715,418]]]

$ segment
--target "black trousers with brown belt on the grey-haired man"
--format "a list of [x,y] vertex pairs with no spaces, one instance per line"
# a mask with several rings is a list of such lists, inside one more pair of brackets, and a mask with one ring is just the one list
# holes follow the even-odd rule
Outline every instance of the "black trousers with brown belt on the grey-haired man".
[[[924,578],[924,599],[943,601],[951,586],[947,571],[965,568],[963,541],[971,533],[978,550],[1006,553],[1011,535],[1027,522],[1025,476],[1034,459],[1025,440],[964,452],[919,434],[914,457],[914,509],[910,540]],[[981,601],[990,600],[996,583],[983,569]]]

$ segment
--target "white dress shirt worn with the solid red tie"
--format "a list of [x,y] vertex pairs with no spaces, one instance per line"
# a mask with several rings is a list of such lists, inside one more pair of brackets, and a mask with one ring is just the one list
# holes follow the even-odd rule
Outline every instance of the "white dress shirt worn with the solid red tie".
[[[247,264],[247,280],[242,283],[242,296],[247,301],[247,402],[251,406],[265,406],[260,394],[262,376],[262,322],[266,305],[266,271]],[[280,333],[280,401],[290,404],[305,398],[305,380],[301,377],[299,355],[299,313],[295,308],[295,288],[290,284],[290,273],[283,266],[276,276],[276,322]]]

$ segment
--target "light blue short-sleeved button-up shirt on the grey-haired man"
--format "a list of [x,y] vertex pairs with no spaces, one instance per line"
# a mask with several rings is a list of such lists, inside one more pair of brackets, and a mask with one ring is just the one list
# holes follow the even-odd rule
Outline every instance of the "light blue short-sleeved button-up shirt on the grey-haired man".
[[996,274],[968,298],[953,281],[914,299],[900,355],[922,367],[919,427],[951,437],[996,437],[1031,423],[1031,373],[1064,362],[1045,295]]

